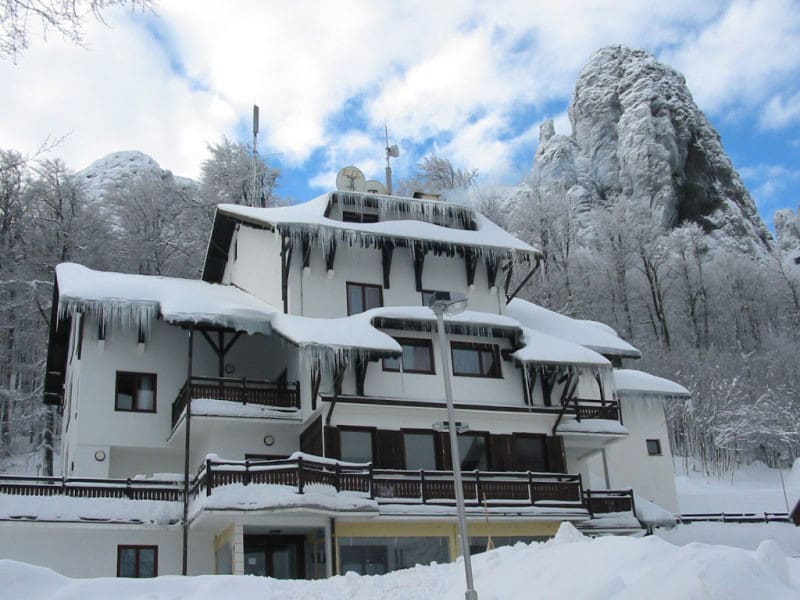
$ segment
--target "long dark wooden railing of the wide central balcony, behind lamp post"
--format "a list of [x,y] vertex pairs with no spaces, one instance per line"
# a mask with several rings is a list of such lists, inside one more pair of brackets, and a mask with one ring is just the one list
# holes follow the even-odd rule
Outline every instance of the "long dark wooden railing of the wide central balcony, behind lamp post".
[[[582,508],[580,475],[532,472],[462,473],[467,505],[549,506]],[[451,471],[378,470],[371,465],[348,466],[336,461],[294,458],[206,464],[192,484],[196,496],[232,483],[279,484],[303,493],[308,484],[325,484],[337,492],[361,492],[384,504],[455,504]]]

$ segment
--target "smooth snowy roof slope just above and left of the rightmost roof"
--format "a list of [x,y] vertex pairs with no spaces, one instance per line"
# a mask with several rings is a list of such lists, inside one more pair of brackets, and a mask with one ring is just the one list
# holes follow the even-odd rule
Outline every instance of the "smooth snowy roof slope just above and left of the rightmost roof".
[[531,329],[590,348],[610,356],[641,358],[641,353],[617,336],[613,329],[596,321],[573,319],[538,304],[514,298],[506,313]]

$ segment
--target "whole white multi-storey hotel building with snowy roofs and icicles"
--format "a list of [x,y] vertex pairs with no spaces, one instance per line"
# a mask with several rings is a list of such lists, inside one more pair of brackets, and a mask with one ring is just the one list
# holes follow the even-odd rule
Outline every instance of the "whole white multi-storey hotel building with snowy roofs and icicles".
[[688,392],[622,369],[639,352],[610,328],[509,301],[539,258],[470,208],[340,191],[220,205],[202,280],[59,265],[64,475],[0,478],[0,558],[280,578],[454,560],[436,292],[468,301],[445,333],[475,551],[668,519],[663,401]]

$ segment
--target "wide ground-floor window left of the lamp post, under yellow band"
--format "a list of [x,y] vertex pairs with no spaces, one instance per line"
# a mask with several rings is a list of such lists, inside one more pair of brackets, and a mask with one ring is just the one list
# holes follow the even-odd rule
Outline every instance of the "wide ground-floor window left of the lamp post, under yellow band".
[[446,537],[344,537],[338,543],[341,573],[380,575],[414,565],[450,561]]

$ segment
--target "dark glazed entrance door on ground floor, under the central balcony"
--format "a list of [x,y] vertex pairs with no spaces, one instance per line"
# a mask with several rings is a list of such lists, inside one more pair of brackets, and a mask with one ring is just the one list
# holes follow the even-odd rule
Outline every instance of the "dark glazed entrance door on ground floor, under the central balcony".
[[305,537],[244,536],[244,574],[275,579],[305,579]]

